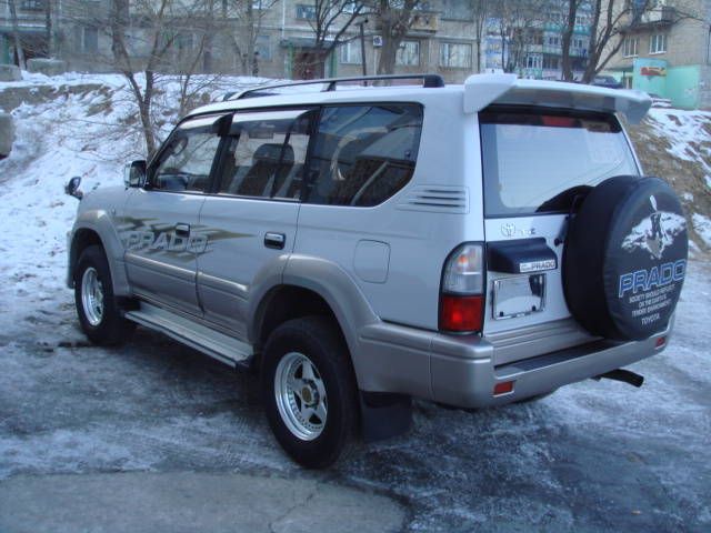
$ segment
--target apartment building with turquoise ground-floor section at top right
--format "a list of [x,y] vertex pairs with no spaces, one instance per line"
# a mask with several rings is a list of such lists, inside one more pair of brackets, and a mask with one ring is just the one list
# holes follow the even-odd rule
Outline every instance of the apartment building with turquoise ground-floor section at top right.
[[628,20],[607,66],[625,87],[683,109],[711,108],[711,0],[667,0]]

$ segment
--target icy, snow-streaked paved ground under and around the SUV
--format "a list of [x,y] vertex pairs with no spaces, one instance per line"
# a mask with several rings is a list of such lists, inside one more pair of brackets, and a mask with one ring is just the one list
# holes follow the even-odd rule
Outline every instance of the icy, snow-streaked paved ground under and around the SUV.
[[330,531],[377,531],[373,516],[383,531],[711,531],[705,263],[670,348],[633,368],[641,390],[588,381],[478,413],[418,403],[409,435],[324,473],[282,455],[250,375],[146,331],[88,346],[68,292],[18,286],[0,286],[2,532],[302,531],[309,516]]

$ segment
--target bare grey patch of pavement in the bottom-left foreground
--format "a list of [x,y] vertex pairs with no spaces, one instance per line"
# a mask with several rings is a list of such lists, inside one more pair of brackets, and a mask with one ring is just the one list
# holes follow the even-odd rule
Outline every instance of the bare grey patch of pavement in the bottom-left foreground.
[[28,533],[397,531],[403,517],[332,483],[202,472],[17,476],[0,497],[2,531]]

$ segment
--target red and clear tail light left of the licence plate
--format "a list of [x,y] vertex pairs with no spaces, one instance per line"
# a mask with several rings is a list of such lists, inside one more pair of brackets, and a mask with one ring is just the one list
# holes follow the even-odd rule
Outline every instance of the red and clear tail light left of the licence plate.
[[439,329],[479,333],[484,319],[484,259],[481,244],[462,244],[444,263]]

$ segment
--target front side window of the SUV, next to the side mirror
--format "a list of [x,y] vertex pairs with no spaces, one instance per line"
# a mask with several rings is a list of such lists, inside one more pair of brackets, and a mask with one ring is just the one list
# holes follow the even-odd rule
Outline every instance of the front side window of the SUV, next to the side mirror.
[[153,164],[151,187],[160,191],[204,192],[220,144],[213,124],[219,118],[183,122],[168,139]]

